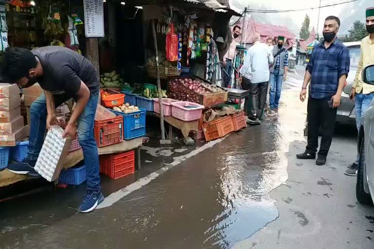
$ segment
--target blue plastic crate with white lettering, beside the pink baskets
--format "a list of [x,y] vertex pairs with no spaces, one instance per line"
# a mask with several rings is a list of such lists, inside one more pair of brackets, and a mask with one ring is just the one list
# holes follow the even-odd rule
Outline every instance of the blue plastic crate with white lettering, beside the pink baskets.
[[145,109],[139,109],[131,113],[124,113],[111,110],[116,115],[123,116],[123,139],[131,140],[146,135],[146,115]]

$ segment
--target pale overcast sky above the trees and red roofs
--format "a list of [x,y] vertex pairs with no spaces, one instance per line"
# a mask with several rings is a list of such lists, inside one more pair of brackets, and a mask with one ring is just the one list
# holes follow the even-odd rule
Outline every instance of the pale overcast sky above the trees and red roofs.
[[[332,3],[342,2],[346,0],[321,0],[321,5],[328,5]],[[319,0],[230,0],[230,6],[234,6],[237,9],[244,10],[244,7],[250,9],[304,9],[318,7]],[[351,28],[352,23],[355,20],[365,21],[365,10],[368,7],[374,7],[374,0],[358,0],[351,3],[345,3],[334,7],[321,8],[319,17],[319,30],[318,33],[322,34],[322,26],[324,19],[327,16],[337,16],[341,21],[341,28],[339,35],[348,34],[348,30]],[[315,26],[317,29],[318,21],[318,8],[309,9],[307,11],[288,12],[288,13],[253,13],[257,22],[265,22],[271,24],[277,24],[281,26],[287,26],[288,29],[299,36],[301,23],[304,20],[305,15],[308,14],[310,17],[310,27]]]

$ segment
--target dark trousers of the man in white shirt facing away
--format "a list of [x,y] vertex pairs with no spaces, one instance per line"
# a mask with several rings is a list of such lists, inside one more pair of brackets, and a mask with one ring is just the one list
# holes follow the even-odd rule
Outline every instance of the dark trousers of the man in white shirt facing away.
[[256,116],[257,118],[261,118],[263,109],[265,108],[268,87],[268,81],[252,84],[249,79],[243,77],[242,88],[243,90],[249,90],[250,92],[251,103],[244,103],[244,105],[247,107],[247,110],[250,110],[250,117],[253,118]]

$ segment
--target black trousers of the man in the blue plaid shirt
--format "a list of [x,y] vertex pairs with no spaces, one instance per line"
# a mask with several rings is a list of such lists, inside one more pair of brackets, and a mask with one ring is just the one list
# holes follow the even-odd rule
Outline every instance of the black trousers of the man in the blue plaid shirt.
[[321,127],[322,138],[318,155],[327,156],[334,135],[337,108],[331,109],[327,103],[331,98],[308,98],[308,145],[306,152],[316,154],[318,148],[318,133]]

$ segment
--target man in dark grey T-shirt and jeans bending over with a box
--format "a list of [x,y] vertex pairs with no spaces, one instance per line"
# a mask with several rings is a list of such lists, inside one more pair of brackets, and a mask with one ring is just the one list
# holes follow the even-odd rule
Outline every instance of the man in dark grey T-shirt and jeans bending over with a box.
[[[30,108],[30,139],[26,160],[9,164],[16,174],[37,174],[34,170],[44,142],[45,129],[56,124],[55,108],[74,98],[76,106],[63,136],[75,137],[83,150],[86,164],[87,192],[78,208],[88,213],[104,200],[100,189],[99,157],[93,138],[99,80],[93,64],[82,55],[64,47],[49,46],[29,51],[8,48],[2,59],[3,76],[19,88],[39,83],[44,90]],[[77,126],[75,125],[77,123]]]

